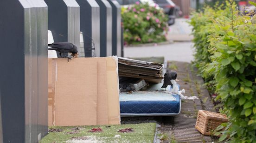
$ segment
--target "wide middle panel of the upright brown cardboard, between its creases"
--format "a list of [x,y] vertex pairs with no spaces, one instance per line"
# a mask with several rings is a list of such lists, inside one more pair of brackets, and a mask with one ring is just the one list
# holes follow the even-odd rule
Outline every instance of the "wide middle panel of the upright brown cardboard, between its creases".
[[97,61],[56,60],[55,125],[96,125]]

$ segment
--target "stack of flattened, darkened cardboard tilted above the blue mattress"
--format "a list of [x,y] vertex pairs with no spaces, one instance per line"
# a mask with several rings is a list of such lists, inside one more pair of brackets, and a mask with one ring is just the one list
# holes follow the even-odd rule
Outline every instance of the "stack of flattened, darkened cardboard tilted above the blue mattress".
[[163,64],[118,57],[118,73],[122,77],[141,78],[150,83],[163,79]]

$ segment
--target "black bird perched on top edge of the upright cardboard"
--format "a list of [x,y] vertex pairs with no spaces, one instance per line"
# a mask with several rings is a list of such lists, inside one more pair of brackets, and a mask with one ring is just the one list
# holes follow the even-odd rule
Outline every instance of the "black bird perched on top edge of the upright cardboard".
[[64,56],[62,55],[63,53],[72,53],[71,57],[69,56],[65,56],[68,58],[69,60],[72,60],[72,57],[77,58],[78,54],[77,54],[77,46],[70,43],[70,42],[54,42],[51,44],[48,44],[49,47],[48,50],[55,50],[59,52],[59,55],[64,58]]

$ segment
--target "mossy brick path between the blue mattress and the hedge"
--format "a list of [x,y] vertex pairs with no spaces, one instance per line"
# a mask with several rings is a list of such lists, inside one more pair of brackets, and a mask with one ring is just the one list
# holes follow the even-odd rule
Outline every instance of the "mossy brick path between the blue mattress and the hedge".
[[[169,62],[168,70],[177,71],[177,83],[181,89],[186,90],[185,96],[197,96],[199,100],[183,100],[181,113],[174,116],[174,122],[162,125],[159,130],[167,133],[178,143],[212,143],[212,137],[204,136],[195,129],[198,110],[216,112],[208,90],[202,86],[203,79],[196,76],[197,69],[186,62]],[[166,129],[170,130],[166,132]]]

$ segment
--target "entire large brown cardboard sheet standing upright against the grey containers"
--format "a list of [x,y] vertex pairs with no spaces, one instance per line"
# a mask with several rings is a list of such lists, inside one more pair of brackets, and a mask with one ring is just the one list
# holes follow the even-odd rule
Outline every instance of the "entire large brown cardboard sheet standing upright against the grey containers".
[[49,125],[120,124],[116,57],[48,60]]

